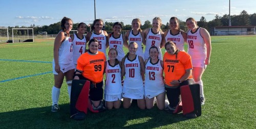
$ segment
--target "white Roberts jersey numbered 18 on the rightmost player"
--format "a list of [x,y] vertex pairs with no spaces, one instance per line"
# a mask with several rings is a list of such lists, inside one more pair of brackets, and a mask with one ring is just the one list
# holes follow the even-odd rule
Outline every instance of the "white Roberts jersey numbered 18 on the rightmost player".
[[196,32],[192,33],[191,30],[187,32],[187,53],[192,59],[205,59],[206,58],[206,46],[203,37],[200,34],[198,28]]

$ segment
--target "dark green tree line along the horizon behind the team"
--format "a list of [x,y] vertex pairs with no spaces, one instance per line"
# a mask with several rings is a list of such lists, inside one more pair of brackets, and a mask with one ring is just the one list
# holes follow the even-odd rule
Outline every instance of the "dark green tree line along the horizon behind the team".
[[[179,18],[179,17],[178,17]],[[243,10],[239,15],[231,15],[231,26],[256,26],[256,13],[248,14],[245,10]],[[123,22],[120,22],[122,24],[122,30],[131,30],[132,25],[124,25]],[[179,20],[180,28],[184,31],[187,31],[186,24],[184,21]],[[79,23],[73,24],[73,30],[76,30]],[[114,23],[112,22],[105,22],[104,27],[106,31],[112,31],[112,26]],[[210,28],[213,27],[221,27],[221,26],[228,26],[229,24],[229,15],[225,14],[223,16],[216,15],[214,19],[210,20],[209,22],[206,22],[206,19],[204,16],[200,18],[200,21],[197,22],[199,27],[203,27],[209,31]],[[141,26],[142,30],[145,30],[147,28],[151,28],[152,24],[150,20],[146,20],[144,24]],[[9,28],[9,35],[11,35],[11,29],[12,28],[33,28],[34,34],[38,34],[38,32],[46,31],[48,34],[57,34],[60,30],[60,22],[51,24],[49,26],[35,26],[35,24],[31,25],[30,27],[8,27]],[[162,23],[161,26],[162,30],[169,29],[169,23],[166,24]],[[0,35],[3,33],[3,29],[0,29]],[[90,31],[90,28],[87,28],[87,31]],[[6,32],[5,32],[6,33]],[[14,30],[14,35],[27,35],[27,33],[32,34],[32,31],[27,32],[27,30]]]

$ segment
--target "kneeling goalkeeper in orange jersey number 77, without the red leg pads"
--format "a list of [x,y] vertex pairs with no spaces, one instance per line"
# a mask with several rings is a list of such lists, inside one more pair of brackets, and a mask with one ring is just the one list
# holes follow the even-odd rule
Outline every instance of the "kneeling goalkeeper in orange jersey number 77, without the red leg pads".
[[163,56],[165,90],[170,103],[167,109],[174,112],[181,101],[180,87],[194,83],[191,76],[193,67],[191,57],[186,52],[177,49],[174,42],[167,41],[165,49],[166,52]]

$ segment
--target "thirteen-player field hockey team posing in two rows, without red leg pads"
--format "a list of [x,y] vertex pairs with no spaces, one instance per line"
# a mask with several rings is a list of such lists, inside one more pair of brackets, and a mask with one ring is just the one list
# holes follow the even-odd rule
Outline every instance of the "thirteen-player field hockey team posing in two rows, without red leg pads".
[[[153,18],[152,28],[144,31],[140,29],[141,20],[133,19],[132,29],[125,35],[121,34],[122,25],[118,22],[108,34],[102,30],[103,20],[95,19],[92,32],[86,37],[86,24],[80,23],[78,33],[69,35],[72,25],[70,18],[63,17],[62,30],[54,41],[52,112],[60,109],[58,99],[64,77],[69,96],[72,79],[90,80],[96,88],[90,91],[89,101],[101,111],[119,109],[121,103],[128,109],[132,102],[137,102],[139,109],[151,109],[157,103],[159,110],[173,112],[181,101],[180,87],[193,83],[200,85],[201,105],[204,104],[202,75],[210,63],[211,39],[194,18],[186,19],[187,32],[179,28],[177,17],[170,18],[169,30],[165,32],[160,29],[159,17]],[[123,47],[129,50],[126,55]],[[164,55],[162,48],[166,50]],[[90,66],[92,59],[99,61],[96,71],[95,66]]]

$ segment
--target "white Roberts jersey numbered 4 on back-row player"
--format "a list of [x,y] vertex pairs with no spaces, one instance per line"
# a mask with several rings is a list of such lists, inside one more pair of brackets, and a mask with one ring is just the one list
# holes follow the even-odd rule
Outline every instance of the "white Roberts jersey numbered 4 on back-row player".
[[77,64],[77,59],[86,51],[86,37],[83,35],[80,39],[77,34],[74,34],[73,39],[73,61]]

